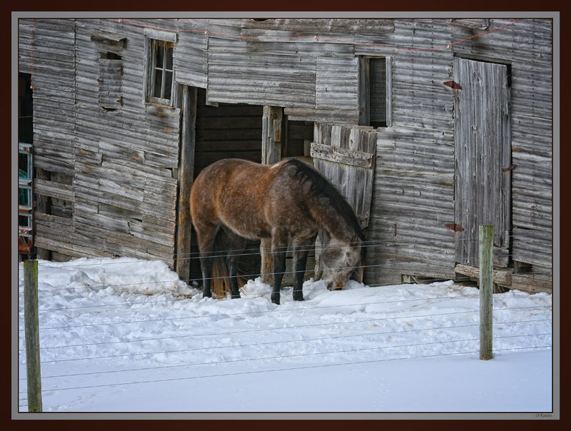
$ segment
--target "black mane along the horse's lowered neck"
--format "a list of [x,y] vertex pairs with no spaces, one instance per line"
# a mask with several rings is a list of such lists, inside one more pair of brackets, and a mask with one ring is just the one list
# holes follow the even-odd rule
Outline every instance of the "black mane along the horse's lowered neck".
[[327,181],[317,170],[308,166],[307,163],[299,161],[296,158],[290,158],[284,163],[285,166],[295,167],[293,178],[299,178],[301,183],[306,181],[310,184],[309,193],[311,196],[319,197],[324,196],[328,198],[331,206],[343,219],[355,230],[361,241],[365,240],[363,230],[361,230],[359,220],[355,216],[355,211],[349,205],[345,198],[338,192],[338,190],[329,181]]

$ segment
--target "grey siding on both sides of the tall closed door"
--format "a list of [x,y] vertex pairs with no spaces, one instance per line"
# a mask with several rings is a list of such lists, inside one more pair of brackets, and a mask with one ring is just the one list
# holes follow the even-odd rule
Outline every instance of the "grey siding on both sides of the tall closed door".
[[[446,21],[398,20],[383,43],[446,46],[482,32]],[[490,20],[490,29],[508,22]],[[550,20],[526,19],[450,50],[386,52],[393,127],[378,129],[369,238],[391,245],[370,248],[380,266],[365,273],[369,283],[398,282],[400,274],[454,276],[454,233],[444,227],[455,221],[453,100],[442,85],[453,79],[453,55],[511,65],[513,260],[551,278],[551,30]],[[373,54],[357,54],[363,51]]]

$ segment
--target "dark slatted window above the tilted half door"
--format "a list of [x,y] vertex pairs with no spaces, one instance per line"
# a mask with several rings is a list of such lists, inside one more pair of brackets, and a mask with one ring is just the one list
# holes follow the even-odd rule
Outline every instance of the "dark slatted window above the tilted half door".
[[390,61],[387,57],[361,57],[359,73],[359,124],[390,126]]

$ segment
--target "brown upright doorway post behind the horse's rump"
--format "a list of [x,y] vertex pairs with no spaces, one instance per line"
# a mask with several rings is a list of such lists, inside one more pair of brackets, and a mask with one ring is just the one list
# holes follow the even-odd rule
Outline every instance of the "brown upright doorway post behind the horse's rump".
[[191,260],[191,187],[194,174],[197,88],[183,86],[181,153],[178,161],[178,217],[176,225],[176,273],[188,280]]

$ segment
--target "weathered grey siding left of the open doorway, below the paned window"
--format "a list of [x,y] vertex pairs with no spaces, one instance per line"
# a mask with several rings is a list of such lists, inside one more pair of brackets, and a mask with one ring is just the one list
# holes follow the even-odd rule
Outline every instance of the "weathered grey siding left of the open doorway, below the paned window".
[[[127,39],[117,53],[123,106],[114,111],[98,102],[101,88],[95,84],[101,77],[93,71],[108,47],[91,41],[97,30]],[[91,78],[77,81],[75,189],[81,206],[76,230],[107,253],[160,258],[173,265],[179,110],[143,103],[145,43],[140,29],[81,20],[76,46],[77,73]]]

